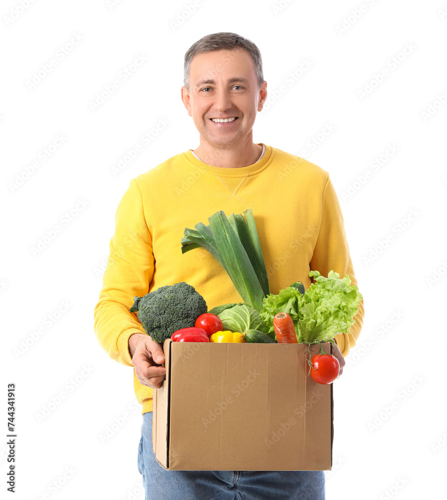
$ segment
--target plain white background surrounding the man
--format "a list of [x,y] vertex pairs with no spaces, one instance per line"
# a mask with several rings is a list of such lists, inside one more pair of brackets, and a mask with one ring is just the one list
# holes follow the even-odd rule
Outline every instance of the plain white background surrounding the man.
[[[14,498],[143,498],[132,370],[99,346],[93,308],[129,180],[198,145],[180,100],[185,51],[233,31],[263,56],[269,106],[254,140],[330,172],[365,298],[359,343],[334,384],[327,498],[440,498],[447,3],[7,0],[0,14],[1,494],[14,382]],[[160,119],[169,124],[142,143]]]

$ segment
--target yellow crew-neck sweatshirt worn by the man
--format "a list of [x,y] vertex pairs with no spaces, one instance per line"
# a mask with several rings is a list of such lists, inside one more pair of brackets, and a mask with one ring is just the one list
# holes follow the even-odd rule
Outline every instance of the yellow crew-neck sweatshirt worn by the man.
[[[260,145],[263,145],[260,143]],[[208,310],[242,302],[228,274],[204,248],[181,253],[185,227],[218,210],[227,215],[252,208],[270,292],[302,281],[309,270],[349,274],[357,284],[343,217],[328,173],[309,161],[265,145],[253,165],[222,168],[203,163],[188,149],[132,179],[115,216],[115,233],[94,310],[96,336],[109,356],[132,366],[128,339],[144,332],[135,313],[135,296],[186,281],[205,298]],[[346,356],[363,323],[363,303],[349,333],[335,337]],[[152,389],[134,373],[142,413],[152,411]]]

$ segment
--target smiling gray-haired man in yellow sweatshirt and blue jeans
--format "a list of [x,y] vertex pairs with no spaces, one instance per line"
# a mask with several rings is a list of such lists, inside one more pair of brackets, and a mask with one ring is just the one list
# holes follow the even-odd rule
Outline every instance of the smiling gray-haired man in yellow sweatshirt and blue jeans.
[[[267,97],[256,45],[235,33],[201,38],[185,54],[181,95],[199,131],[199,146],[130,182],[116,212],[95,308],[102,346],[113,359],[134,366],[135,394],[143,405],[138,466],[146,498],[324,498],[322,471],[167,471],[155,460],[152,388],[161,387],[165,377],[164,355],[129,312],[134,296],[186,281],[205,298],[208,309],[242,301],[209,252],[199,248],[181,254],[185,227],[206,223],[218,210],[242,213],[250,207],[272,293],[296,280],[307,288],[311,269],[326,276],[333,269],[357,283],[328,173],[303,158],[253,142],[256,113]],[[284,123],[285,132],[289,126]],[[363,303],[350,332],[335,337],[342,368],[362,320]]]

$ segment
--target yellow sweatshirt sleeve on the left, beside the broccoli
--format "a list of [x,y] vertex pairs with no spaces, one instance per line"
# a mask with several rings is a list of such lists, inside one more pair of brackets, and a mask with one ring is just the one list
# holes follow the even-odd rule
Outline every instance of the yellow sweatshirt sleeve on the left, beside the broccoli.
[[133,333],[144,333],[136,314],[129,312],[129,308],[135,296],[148,293],[154,260],[141,191],[132,179],[116,210],[115,232],[94,309],[94,330],[99,343],[112,359],[128,366],[133,366],[129,337]]

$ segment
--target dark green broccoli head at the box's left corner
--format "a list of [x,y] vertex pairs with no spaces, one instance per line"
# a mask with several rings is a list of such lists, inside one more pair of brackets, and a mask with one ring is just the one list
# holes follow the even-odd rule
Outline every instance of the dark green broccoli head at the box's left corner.
[[161,286],[143,297],[135,297],[130,312],[137,312],[145,332],[156,342],[163,342],[174,331],[194,326],[208,307],[194,286],[184,281]]

